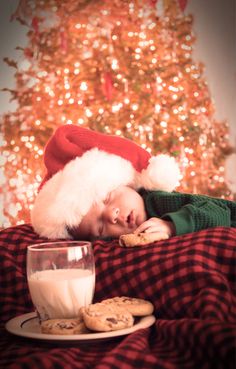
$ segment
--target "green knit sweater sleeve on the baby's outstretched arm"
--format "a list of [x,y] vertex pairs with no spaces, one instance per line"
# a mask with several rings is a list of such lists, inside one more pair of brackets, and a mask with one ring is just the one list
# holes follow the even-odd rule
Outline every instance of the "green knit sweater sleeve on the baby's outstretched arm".
[[209,200],[184,205],[177,211],[164,214],[161,218],[174,223],[176,235],[217,226],[231,226],[230,209],[224,204],[216,204]]

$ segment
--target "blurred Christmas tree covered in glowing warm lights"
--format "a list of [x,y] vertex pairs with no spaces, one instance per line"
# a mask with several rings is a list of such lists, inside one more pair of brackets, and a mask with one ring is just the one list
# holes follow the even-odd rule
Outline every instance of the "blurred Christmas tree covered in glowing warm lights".
[[4,226],[29,221],[43,149],[62,124],[131,138],[176,157],[178,190],[230,198],[228,126],[214,118],[204,65],[193,60],[193,17],[181,0],[21,0],[28,27],[15,68],[18,103],[2,120]]

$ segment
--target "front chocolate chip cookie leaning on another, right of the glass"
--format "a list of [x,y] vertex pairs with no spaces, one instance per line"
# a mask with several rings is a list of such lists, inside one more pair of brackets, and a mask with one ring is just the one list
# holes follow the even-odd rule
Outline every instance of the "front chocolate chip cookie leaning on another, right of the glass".
[[96,332],[109,332],[130,328],[134,318],[130,312],[119,306],[102,302],[82,307],[80,312],[88,329]]

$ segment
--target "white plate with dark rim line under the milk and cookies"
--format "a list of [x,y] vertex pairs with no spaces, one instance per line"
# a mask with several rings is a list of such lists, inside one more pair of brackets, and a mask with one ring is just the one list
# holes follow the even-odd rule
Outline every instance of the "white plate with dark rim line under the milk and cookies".
[[150,327],[155,322],[155,320],[156,319],[154,315],[148,315],[145,317],[141,317],[137,321],[137,323],[135,323],[131,328],[120,329],[112,332],[58,335],[58,334],[41,333],[40,324],[36,314],[28,313],[9,320],[6,323],[6,330],[17,336],[34,338],[39,340],[87,341],[87,340],[108,339],[112,337],[127,335],[137,331],[138,329]]

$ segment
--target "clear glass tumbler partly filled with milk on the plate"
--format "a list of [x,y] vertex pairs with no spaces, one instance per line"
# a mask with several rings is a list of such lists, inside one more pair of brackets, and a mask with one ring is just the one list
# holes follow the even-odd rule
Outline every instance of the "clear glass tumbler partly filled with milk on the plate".
[[40,321],[78,316],[94,296],[92,244],[60,241],[28,246],[27,280]]

